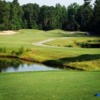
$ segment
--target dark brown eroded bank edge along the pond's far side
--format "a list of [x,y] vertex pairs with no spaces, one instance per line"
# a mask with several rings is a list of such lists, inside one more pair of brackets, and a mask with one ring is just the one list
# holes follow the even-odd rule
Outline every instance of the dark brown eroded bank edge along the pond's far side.
[[73,66],[67,66],[62,62],[58,62],[58,61],[54,61],[54,60],[47,60],[44,62],[39,62],[34,60],[33,58],[21,58],[18,56],[12,56],[12,55],[0,55],[0,58],[11,58],[11,59],[19,59],[22,61],[26,61],[26,62],[34,62],[34,63],[39,63],[39,64],[44,64],[46,66],[51,66],[51,67],[55,67],[55,68],[60,68],[60,69],[71,69],[71,70],[80,70],[80,71],[84,71],[84,69],[82,68],[75,68]]

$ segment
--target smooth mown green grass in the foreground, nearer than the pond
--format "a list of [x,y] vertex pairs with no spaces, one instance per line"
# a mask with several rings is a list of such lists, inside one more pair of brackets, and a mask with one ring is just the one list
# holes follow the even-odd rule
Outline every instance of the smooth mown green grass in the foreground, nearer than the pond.
[[100,72],[0,74],[0,100],[100,100]]

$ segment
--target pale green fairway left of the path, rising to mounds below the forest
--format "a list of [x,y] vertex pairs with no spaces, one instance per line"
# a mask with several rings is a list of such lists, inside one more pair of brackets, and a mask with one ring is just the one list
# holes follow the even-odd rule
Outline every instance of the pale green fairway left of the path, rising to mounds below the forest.
[[67,37],[71,32],[62,30],[42,31],[42,30],[19,30],[17,34],[2,36],[0,35],[0,47],[32,47],[33,42],[48,38]]

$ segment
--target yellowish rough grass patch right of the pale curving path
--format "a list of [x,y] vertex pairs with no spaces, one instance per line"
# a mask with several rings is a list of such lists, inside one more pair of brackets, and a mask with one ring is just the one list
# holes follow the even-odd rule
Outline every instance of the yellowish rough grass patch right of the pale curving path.
[[65,37],[59,38],[54,41],[46,43],[47,45],[51,46],[58,46],[58,47],[81,47],[81,43],[99,43],[99,37]]

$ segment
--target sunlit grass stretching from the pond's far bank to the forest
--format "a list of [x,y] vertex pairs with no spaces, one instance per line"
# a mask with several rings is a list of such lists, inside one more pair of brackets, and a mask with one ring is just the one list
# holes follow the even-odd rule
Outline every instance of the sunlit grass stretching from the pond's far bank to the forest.
[[[73,37],[75,35],[78,37]],[[58,48],[32,45],[32,43],[50,38],[55,39],[55,41],[50,42],[52,45],[59,43],[59,41],[63,41],[61,45],[69,44],[70,40],[73,39],[75,39],[75,41],[97,39],[96,37],[84,37],[84,33],[81,32],[72,34],[72,32],[62,30],[41,31],[25,29],[19,30],[18,33],[14,35],[0,35],[0,55],[14,55],[20,58],[27,58],[36,62],[57,65],[64,68],[70,66],[71,68],[82,70],[100,70],[99,48]],[[21,48],[23,49],[21,50]]]

